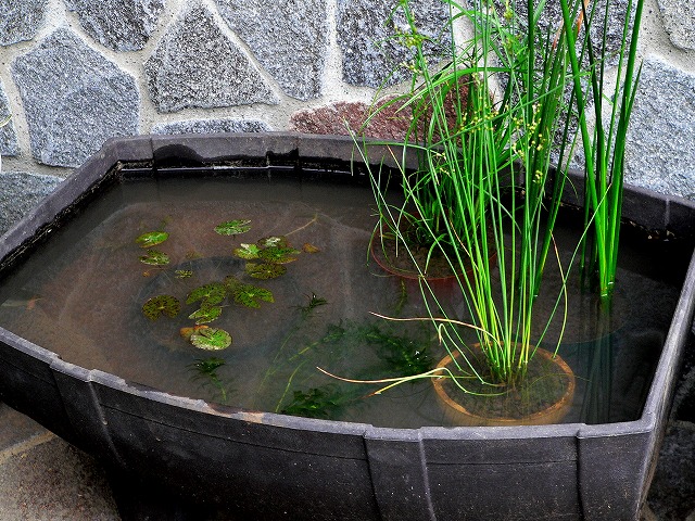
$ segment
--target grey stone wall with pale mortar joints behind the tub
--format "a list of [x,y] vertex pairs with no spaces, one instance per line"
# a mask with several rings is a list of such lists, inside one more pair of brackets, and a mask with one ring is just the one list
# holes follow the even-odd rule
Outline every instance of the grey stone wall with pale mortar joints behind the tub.
[[[695,2],[646,1],[628,176],[695,199]],[[391,4],[0,0],[3,169],[65,177],[112,136],[344,134],[386,79],[404,88],[386,74],[406,58],[386,39]],[[439,0],[416,8],[425,30],[441,27]]]

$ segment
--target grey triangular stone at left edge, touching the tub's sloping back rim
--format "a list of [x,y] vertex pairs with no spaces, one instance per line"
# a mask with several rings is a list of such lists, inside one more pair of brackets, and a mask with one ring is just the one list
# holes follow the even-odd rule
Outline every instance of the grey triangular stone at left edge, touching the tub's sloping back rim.
[[60,177],[24,171],[0,173],[0,234],[51,193]]

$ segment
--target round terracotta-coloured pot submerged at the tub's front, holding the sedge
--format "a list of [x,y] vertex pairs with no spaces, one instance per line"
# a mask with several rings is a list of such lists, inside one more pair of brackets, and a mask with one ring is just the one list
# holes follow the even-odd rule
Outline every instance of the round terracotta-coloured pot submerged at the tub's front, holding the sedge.
[[[447,367],[460,357],[458,352],[437,365]],[[458,425],[546,425],[561,422],[574,397],[574,373],[558,355],[538,348],[518,389],[501,392],[492,385],[465,383],[462,391],[450,378],[432,380],[446,417]]]

